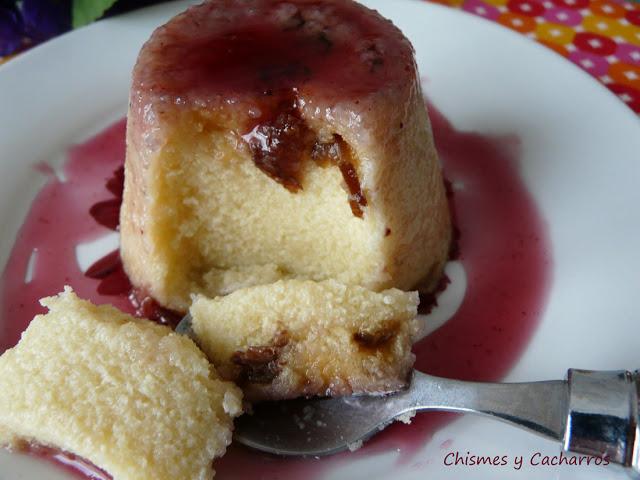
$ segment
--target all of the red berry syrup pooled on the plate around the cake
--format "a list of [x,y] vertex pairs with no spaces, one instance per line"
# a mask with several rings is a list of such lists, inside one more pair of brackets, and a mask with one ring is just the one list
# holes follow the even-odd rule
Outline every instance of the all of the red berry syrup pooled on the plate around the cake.
[[[545,223],[518,173],[516,137],[460,132],[434,106],[429,106],[429,113],[451,185],[458,233],[454,255],[464,267],[467,287],[456,313],[415,345],[416,368],[449,378],[498,381],[522,355],[544,310],[551,281]],[[175,325],[172,312],[132,290],[117,251],[103,252],[84,269],[76,258],[79,244],[118,228],[124,134],[122,120],[73,147],[63,166],[64,181],[46,166],[36,169],[48,180],[31,206],[2,275],[0,352],[17,343],[34,315],[44,313],[38,299],[60,292],[64,285],[95,303],[110,303]],[[234,445],[216,461],[216,478],[317,477],[390,450],[399,451],[397,461],[406,464],[452,418],[421,414],[411,425],[390,426],[355,453],[322,460],[284,460]],[[65,458],[61,452],[35,448],[31,453],[60,467],[66,464],[73,475],[91,476],[86,465],[76,468],[61,460]]]

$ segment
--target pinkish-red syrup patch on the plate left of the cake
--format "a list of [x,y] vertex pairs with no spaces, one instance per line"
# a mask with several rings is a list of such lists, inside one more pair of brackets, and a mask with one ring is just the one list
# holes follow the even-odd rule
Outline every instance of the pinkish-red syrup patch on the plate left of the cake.
[[[37,170],[48,181],[33,201],[16,237],[0,279],[0,350],[13,346],[37,313],[38,299],[73,286],[76,293],[97,303],[113,303],[131,311],[126,298],[105,297],[96,282],[84,276],[76,262],[76,247],[109,233],[89,214],[96,204],[113,198],[106,183],[124,159],[125,121],[107,128],[69,151],[62,176],[43,165]],[[32,255],[31,281],[24,282]]]

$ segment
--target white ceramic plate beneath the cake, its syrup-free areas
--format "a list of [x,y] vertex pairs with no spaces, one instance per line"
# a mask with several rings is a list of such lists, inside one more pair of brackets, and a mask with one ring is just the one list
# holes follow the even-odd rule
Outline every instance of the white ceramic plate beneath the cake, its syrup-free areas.
[[[569,367],[640,367],[640,122],[595,80],[532,41],[477,17],[412,0],[364,2],[412,40],[426,91],[458,129],[517,134],[521,171],[548,222],[553,284],[543,319],[507,380]],[[149,8],[62,36],[0,67],[0,261],[42,182],[32,166],[125,113],[136,54],[185,3]],[[441,448],[445,440],[447,448]],[[552,442],[481,418],[450,423],[415,459],[396,451],[346,462],[326,478],[625,478],[612,468],[446,467],[449,451],[553,455]],[[6,452],[0,479],[67,478]]]

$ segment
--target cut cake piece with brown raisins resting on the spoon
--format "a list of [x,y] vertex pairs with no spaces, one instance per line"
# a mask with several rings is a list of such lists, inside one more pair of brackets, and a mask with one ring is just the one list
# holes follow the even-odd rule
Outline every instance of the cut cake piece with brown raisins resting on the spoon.
[[385,393],[407,385],[418,294],[281,280],[195,298],[196,342],[250,401]]

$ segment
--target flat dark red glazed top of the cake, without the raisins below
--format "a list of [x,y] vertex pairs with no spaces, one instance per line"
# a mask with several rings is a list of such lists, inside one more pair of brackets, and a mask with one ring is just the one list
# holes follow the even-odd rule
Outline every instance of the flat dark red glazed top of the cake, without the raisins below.
[[154,32],[132,99],[210,107],[304,91],[353,100],[415,76],[400,30],[351,0],[211,0]]

